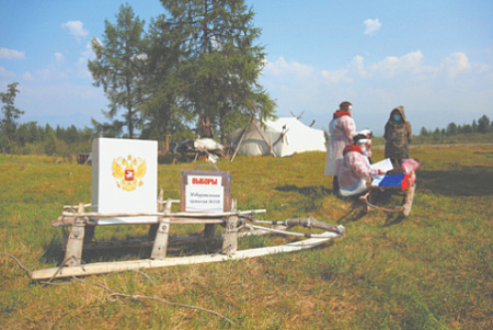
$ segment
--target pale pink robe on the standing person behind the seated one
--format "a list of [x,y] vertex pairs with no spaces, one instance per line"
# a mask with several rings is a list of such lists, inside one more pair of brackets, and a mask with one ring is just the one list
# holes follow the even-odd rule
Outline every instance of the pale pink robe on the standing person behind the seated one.
[[349,116],[342,116],[329,124],[329,148],[326,149],[325,175],[337,175],[343,158],[342,151],[356,135],[356,124]]

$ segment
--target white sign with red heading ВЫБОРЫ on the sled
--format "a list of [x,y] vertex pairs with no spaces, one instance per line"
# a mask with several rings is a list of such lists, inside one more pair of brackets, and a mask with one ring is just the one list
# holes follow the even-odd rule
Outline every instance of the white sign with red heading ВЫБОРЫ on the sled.
[[188,175],[185,186],[185,212],[222,212],[225,187],[222,177]]

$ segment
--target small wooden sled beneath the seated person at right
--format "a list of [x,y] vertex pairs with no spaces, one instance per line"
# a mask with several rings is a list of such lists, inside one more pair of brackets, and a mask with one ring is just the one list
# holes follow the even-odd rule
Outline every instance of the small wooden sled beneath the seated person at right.
[[[409,179],[411,180],[411,178]],[[368,192],[359,197],[359,201],[364,204],[365,212],[369,212],[371,208],[380,209],[388,213],[399,213],[403,217],[408,217],[411,213],[411,207],[413,206],[414,192],[416,190],[416,183],[410,182],[409,186],[402,191],[401,186],[369,186]],[[385,192],[390,192],[390,194],[395,194],[402,196],[402,205],[397,207],[383,207],[377,205],[378,195]]]

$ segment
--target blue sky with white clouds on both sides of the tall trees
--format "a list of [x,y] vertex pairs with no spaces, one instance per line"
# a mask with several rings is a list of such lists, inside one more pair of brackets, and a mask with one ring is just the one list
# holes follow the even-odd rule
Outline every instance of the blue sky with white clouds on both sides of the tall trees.
[[[146,23],[159,0],[0,0],[0,91],[19,82],[21,123],[68,127],[104,121],[108,101],[88,59],[123,3]],[[493,120],[491,0],[245,0],[262,30],[259,82],[277,116],[326,129],[342,101],[377,136],[404,105],[414,134]]]

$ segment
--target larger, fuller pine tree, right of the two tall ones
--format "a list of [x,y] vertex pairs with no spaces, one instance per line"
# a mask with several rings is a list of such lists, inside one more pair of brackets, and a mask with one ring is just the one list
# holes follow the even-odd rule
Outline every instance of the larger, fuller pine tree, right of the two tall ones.
[[257,83],[264,48],[255,44],[252,9],[244,0],[161,0],[169,27],[180,35],[180,104],[198,120],[204,137],[225,134],[252,116],[274,114],[275,102]]

